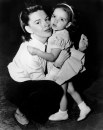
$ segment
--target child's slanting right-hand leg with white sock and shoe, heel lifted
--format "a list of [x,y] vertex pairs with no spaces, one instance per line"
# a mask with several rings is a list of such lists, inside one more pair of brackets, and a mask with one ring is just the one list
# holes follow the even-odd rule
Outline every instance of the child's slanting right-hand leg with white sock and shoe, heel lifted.
[[79,115],[79,118],[77,119],[77,121],[83,120],[87,116],[87,114],[91,111],[91,109],[82,100],[79,93],[75,91],[72,82],[68,83],[67,92],[72,96],[72,98],[78,104],[78,107],[80,109],[80,115]]

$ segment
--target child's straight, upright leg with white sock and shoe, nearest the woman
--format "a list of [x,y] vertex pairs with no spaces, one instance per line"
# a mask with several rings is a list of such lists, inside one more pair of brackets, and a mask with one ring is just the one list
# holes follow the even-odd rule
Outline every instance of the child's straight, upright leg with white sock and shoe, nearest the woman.
[[53,120],[53,121],[58,121],[58,120],[66,120],[68,118],[68,113],[67,113],[67,97],[66,97],[66,93],[67,93],[67,83],[62,85],[62,88],[64,90],[64,94],[61,98],[60,101],[60,109],[58,112],[52,114],[49,117],[49,120]]

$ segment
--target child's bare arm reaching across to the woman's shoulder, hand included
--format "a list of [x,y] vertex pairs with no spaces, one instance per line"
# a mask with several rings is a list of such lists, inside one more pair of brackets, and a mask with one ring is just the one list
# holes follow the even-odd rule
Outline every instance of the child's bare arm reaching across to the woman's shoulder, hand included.
[[31,55],[38,55],[43,59],[51,62],[55,61],[61,52],[61,49],[59,48],[53,48],[51,53],[43,52],[31,46],[28,46],[27,49]]

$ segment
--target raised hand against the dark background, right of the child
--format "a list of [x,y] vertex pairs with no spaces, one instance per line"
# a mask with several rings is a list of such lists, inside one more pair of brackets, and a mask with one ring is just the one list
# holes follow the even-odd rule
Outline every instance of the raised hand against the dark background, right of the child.
[[84,34],[82,34],[81,39],[79,41],[79,50],[83,52],[87,49],[87,47],[88,47],[88,39]]

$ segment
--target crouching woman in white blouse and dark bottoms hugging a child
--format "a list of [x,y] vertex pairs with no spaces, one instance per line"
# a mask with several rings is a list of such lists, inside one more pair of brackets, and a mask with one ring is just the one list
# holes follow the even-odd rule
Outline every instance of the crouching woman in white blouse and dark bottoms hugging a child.
[[[27,46],[31,45],[45,51],[45,44],[51,36],[49,18],[43,7],[35,5],[25,8],[20,13],[20,23],[26,40],[21,43],[8,65],[11,81],[8,83],[10,87],[6,97],[17,106],[16,120],[22,125],[27,125],[31,120],[46,121],[53,113],[51,106],[59,106],[63,92],[59,85],[49,81],[49,75],[44,74],[46,61],[37,55],[30,55],[27,50]],[[54,63],[56,71],[68,57],[66,51],[61,52]]]

